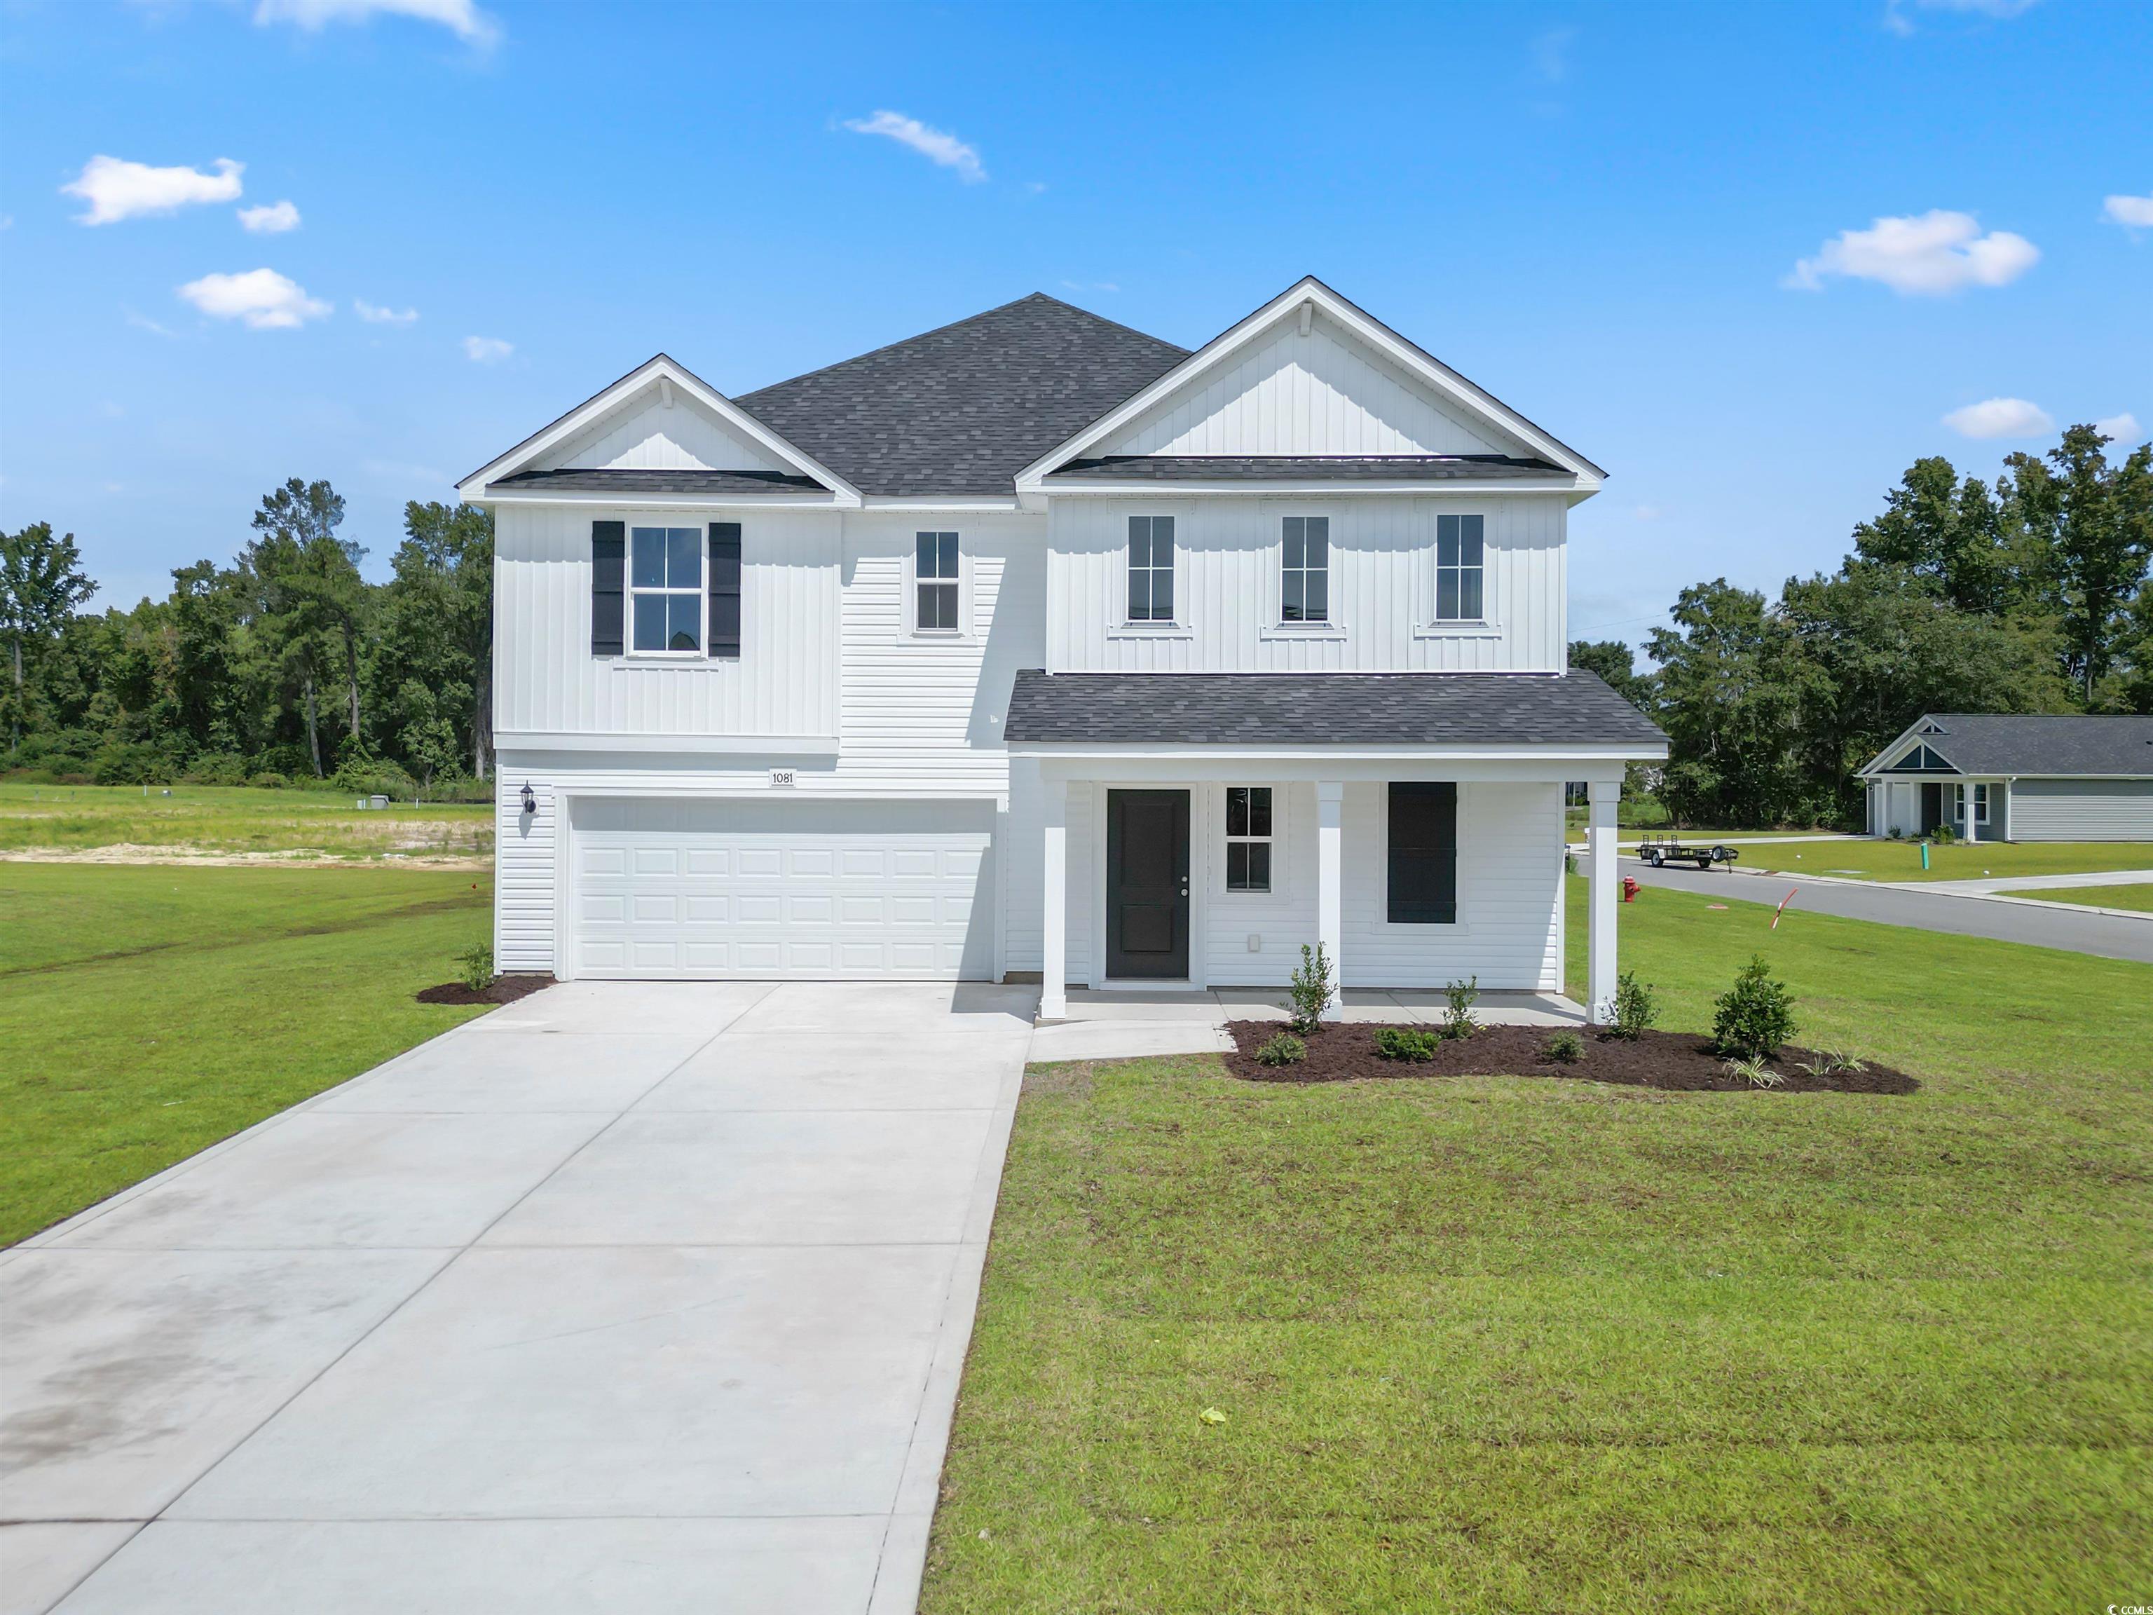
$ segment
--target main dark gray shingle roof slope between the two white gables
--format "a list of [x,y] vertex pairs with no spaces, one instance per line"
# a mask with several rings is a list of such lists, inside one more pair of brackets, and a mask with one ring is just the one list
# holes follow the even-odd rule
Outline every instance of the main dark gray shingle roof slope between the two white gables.
[[1031,461],[1186,357],[1033,293],[732,403],[861,493],[1008,495]]

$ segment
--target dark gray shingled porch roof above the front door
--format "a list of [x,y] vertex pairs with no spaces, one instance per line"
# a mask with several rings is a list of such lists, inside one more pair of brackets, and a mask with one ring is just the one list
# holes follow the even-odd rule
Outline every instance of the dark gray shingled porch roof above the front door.
[[1628,745],[1666,736],[1589,672],[1016,674],[1010,745]]

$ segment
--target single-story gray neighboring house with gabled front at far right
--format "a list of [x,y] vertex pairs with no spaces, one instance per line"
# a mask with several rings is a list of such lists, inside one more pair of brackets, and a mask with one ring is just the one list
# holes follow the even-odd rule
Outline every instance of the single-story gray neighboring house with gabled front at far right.
[[1871,835],[2153,842],[2153,717],[1923,713],[1856,777]]

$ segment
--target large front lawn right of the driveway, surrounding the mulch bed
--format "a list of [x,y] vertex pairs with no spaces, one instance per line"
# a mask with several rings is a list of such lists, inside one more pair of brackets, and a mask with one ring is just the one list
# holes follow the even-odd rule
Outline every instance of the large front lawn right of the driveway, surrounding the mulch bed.
[[2153,969],[1768,922],[1626,963],[1920,1094],[1036,1068],[921,1609],[2153,1602]]

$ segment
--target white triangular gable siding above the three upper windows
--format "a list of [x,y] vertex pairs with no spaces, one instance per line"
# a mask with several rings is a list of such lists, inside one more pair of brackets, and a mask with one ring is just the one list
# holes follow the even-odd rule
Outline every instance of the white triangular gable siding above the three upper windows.
[[1324,317],[1285,319],[1098,454],[1529,454],[1445,409]]

